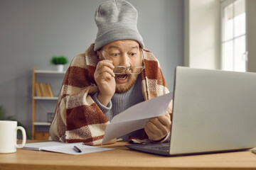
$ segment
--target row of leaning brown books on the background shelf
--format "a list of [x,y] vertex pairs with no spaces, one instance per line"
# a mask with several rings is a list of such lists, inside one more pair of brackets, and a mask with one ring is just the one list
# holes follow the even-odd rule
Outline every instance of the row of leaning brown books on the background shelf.
[[40,97],[53,97],[53,91],[50,84],[36,83],[36,96]]

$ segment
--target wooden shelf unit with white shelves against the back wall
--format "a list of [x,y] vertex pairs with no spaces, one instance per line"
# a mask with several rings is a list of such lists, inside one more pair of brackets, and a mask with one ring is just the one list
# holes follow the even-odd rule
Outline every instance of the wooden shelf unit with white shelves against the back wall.
[[[36,139],[36,137],[42,136],[41,134],[36,134],[35,126],[47,126],[50,125],[50,123],[47,122],[36,122],[36,101],[43,100],[43,101],[50,101],[50,100],[58,100],[57,96],[54,97],[41,97],[36,96],[36,74],[65,74],[65,72],[58,72],[58,71],[50,71],[50,70],[36,70],[35,67],[33,67],[33,84],[32,84],[32,139],[33,140],[42,140],[42,139]],[[43,140],[47,138],[46,132],[43,132]]]

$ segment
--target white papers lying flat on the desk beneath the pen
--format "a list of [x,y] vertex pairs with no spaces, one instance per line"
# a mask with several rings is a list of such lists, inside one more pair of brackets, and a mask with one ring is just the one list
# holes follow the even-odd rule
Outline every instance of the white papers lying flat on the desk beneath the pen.
[[[78,147],[81,152],[77,152],[76,149],[74,149],[74,146]],[[111,150],[112,148],[91,147],[87,145],[82,145],[82,142],[78,142],[78,143],[37,142],[37,143],[28,143],[23,147],[23,149],[58,152],[63,154],[87,154],[92,152],[101,152],[101,151]]]

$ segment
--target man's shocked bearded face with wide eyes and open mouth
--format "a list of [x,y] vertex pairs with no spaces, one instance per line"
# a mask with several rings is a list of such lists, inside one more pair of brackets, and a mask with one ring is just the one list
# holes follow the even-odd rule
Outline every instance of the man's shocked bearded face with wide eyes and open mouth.
[[[134,67],[142,66],[142,55],[139,43],[134,40],[117,40],[102,47],[107,60],[112,60],[114,66]],[[100,60],[105,60],[101,52],[97,51]],[[130,74],[129,69],[123,74],[116,74],[116,92],[123,93],[129,90],[137,80],[138,74]]]

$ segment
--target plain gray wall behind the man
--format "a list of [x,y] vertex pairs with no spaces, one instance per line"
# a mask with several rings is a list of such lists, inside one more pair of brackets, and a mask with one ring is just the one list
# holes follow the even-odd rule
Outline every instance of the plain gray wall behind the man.
[[[72,60],[85,52],[95,40],[94,13],[102,1],[0,0],[0,105],[7,115],[31,129],[32,68],[52,70],[53,55]],[[183,1],[129,1],[139,12],[146,48],[173,91],[174,68],[183,65]]]

